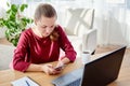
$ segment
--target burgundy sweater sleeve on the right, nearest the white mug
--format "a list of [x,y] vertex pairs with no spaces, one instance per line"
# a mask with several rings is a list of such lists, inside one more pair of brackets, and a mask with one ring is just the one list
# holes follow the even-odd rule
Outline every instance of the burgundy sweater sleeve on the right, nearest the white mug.
[[58,29],[60,29],[60,43],[62,49],[65,52],[65,57],[67,57],[70,61],[75,61],[77,53],[75,52],[72,43],[69,42],[66,33],[63,31],[61,26],[58,26]]

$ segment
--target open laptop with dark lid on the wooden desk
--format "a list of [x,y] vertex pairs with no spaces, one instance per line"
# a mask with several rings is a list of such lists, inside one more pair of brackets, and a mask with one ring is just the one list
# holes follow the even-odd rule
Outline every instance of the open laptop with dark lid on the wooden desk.
[[126,46],[52,81],[55,86],[106,86],[119,74]]

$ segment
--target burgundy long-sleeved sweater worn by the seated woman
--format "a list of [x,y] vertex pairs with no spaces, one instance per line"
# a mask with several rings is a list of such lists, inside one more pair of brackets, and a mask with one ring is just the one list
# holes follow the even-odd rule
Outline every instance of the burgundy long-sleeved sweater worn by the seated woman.
[[76,52],[68,41],[65,32],[58,26],[55,28],[60,34],[56,41],[51,41],[50,37],[39,38],[31,28],[22,32],[13,57],[13,69],[26,71],[30,63],[44,63],[58,60],[60,48],[65,52],[65,57],[70,61],[76,59]]

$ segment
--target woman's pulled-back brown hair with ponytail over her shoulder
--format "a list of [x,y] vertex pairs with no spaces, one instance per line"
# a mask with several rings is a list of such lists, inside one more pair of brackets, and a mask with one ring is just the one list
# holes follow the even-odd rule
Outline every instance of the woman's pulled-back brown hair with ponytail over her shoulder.
[[[51,17],[57,17],[57,14],[56,14],[55,9],[51,4],[40,3],[38,5],[38,8],[36,9],[35,19],[38,20],[42,16],[51,18]],[[55,26],[55,28],[56,28],[56,26]],[[55,31],[55,28],[52,31],[52,33],[50,34],[50,39],[52,41],[56,41],[58,38],[58,33],[57,33],[57,31]]]

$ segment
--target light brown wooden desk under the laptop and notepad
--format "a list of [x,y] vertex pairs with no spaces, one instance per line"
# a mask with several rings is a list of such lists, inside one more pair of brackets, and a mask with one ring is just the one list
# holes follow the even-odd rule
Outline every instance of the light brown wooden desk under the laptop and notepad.
[[[81,67],[81,61],[80,59],[76,60],[74,63],[67,64],[65,67],[63,73],[58,75],[47,75],[43,72],[26,72],[22,73],[18,71],[12,71],[12,70],[3,70],[0,71],[0,86],[11,86],[11,82],[21,78],[23,76],[29,76],[31,80],[40,84],[41,86],[53,86],[51,84],[51,81],[67,73],[73,71],[74,69],[78,69]],[[130,69],[125,69],[121,68],[119,77],[109,84],[108,86],[130,86]]]

